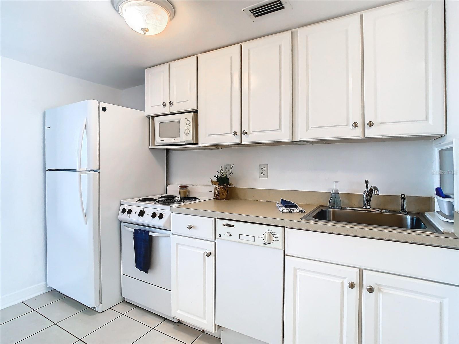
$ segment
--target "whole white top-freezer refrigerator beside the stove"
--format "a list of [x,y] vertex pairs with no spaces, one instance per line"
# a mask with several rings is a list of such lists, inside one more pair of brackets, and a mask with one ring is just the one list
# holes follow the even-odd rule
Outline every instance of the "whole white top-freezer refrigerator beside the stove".
[[121,302],[120,200],[165,192],[143,111],[85,100],[46,110],[48,286],[104,311]]

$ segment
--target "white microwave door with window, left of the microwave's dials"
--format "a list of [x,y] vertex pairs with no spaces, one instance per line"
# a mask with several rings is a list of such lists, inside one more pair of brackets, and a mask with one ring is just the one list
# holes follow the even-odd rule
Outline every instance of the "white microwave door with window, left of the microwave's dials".
[[155,144],[185,144],[182,114],[155,117]]

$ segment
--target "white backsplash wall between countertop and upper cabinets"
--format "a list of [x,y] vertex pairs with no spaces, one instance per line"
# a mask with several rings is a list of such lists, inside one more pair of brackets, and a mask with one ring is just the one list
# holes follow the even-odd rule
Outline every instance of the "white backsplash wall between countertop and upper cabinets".
[[[168,183],[208,184],[220,165],[234,164],[231,182],[257,189],[362,193],[365,179],[381,194],[432,196],[431,141],[364,142],[169,151]],[[258,165],[268,164],[268,178]]]

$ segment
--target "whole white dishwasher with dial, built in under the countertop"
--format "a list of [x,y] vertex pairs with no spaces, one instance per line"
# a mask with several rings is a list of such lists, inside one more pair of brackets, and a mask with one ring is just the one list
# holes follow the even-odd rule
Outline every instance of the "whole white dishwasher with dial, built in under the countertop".
[[282,343],[284,227],[218,219],[216,253],[215,323],[223,327],[222,344],[246,337]]

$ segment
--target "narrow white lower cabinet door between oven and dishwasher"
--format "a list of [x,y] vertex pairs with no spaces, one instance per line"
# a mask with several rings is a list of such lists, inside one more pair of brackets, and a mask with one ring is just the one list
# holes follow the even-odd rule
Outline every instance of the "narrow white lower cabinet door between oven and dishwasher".
[[214,332],[215,243],[171,236],[172,316]]

